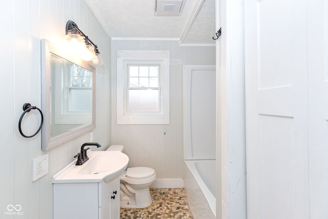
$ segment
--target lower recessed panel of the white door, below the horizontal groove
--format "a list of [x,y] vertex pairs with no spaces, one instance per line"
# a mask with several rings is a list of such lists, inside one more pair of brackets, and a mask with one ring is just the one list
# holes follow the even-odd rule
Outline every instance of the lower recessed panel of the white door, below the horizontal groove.
[[[258,169],[262,218],[294,218],[294,119],[259,115]],[[280,213],[283,212],[283,214]],[[279,213],[279,214],[278,214]],[[276,216],[274,216],[276,215]],[[277,217],[279,215],[279,217]],[[280,217],[282,216],[283,217]]]

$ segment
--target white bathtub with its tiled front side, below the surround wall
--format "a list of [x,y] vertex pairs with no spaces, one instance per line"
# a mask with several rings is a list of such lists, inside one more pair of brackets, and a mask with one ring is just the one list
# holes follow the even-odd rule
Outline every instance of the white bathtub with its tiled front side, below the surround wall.
[[185,163],[185,191],[194,218],[215,218],[215,160]]

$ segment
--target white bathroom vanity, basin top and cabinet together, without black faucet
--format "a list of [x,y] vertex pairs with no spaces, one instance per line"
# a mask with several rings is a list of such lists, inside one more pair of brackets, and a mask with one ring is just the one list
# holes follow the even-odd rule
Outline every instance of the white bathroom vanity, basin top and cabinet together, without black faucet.
[[129,157],[118,151],[88,151],[52,176],[54,219],[119,218],[119,176]]

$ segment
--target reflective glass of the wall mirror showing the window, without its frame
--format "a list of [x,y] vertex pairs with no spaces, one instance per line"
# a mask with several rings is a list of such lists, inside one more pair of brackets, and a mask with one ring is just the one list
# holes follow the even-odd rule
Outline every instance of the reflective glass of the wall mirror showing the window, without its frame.
[[93,73],[56,55],[51,63],[52,130],[58,135],[91,124]]

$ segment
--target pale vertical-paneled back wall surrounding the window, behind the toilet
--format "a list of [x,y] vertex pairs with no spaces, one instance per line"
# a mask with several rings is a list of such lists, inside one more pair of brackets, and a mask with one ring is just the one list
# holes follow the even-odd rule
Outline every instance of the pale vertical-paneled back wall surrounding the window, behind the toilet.
[[[170,51],[170,125],[116,125],[117,50]],[[158,180],[182,179],[183,65],[215,65],[215,47],[180,46],[179,41],[115,39],[112,41],[111,63],[112,144],[125,146],[130,166],[154,168]]]

